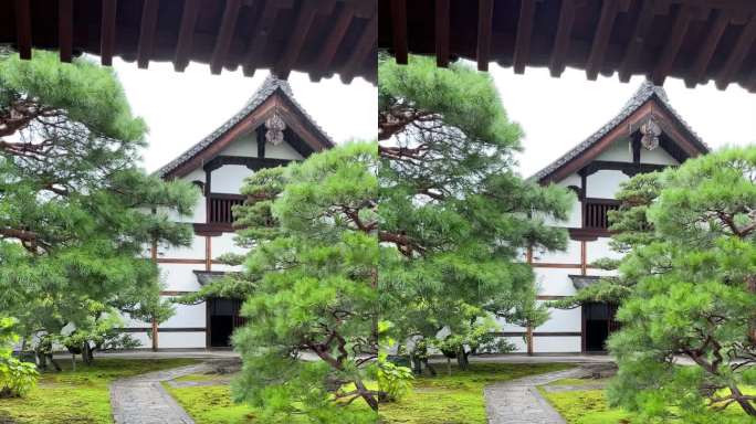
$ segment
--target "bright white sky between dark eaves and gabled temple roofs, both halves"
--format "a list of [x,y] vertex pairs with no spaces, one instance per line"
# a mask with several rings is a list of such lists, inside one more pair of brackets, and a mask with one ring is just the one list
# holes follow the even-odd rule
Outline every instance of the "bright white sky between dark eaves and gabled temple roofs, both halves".
[[[244,77],[239,72],[211,75],[207,65],[190,64],[174,72],[170,63],[150,63],[149,71],[116,59],[118,72],[135,114],[150,127],[145,167],[154,171],[210,134],[235,114],[262,84],[267,72]],[[590,136],[611,119],[636,92],[642,77],[620,83],[617,76],[588,81],[582,71],[567,68],[560,78],[546,68],[491,65],[491,75],[510,117],[525,130],[518,155],[521,172],[528,177]],[[361,78],[345,85],[333,77],[312,83],[292,73],[294,96],[336,142],[375,139],[377,88]],[[664,88],[672,106],[712,148],[756,142],[756,94],[736,85],[718,91],[713,82],[689,89],[668,78]]]

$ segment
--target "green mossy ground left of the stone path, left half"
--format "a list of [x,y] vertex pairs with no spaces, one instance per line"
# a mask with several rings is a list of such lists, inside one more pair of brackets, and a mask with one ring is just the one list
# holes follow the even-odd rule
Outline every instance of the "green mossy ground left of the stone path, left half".
[[0,423],[109,424],[113,380],[196,363],[191,359],[95,359],[93,365],[61,361],[62,372],[42,373],[39,384],[21,399],[0,399]]

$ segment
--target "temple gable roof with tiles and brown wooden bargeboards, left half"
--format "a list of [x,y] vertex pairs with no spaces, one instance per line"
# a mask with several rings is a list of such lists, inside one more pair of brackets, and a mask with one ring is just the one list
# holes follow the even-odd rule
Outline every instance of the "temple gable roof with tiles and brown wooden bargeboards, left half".
[[[233,141],[239,135],[253,130],[277,109],[284,121],[302,137],[313,151],[321,151],[334,147],[334,141],[317,125],[307,112],[296,102],[288,82],[273,75],[265,78],[263,84],[229,120],[183,153],[171,160],[157,171],[162,178],[180,177],[197,166],[204,163],[211,150],[220,151],[222,147]],[[209,153],[209,155],[208,155]]]

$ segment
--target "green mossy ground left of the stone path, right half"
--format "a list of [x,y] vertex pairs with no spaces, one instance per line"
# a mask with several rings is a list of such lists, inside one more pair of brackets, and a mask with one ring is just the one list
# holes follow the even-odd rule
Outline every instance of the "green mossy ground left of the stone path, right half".
[[381,405],[380,415],[387,424],[485,424],[483,388],[521,377],[570,368],[565,363],[472,363],[461,371],[438,367],[439,375],[420,377],[414,390],[395,403]]

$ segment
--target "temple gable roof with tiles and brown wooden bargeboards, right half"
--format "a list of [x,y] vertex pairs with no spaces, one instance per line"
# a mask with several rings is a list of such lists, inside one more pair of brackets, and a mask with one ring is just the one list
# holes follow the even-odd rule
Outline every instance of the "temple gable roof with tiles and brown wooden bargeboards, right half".
[[672,141],[681,146],[689,156],[708,151],[708,146],[693,131],[670,104],[664,88],[645,81],[624,104],[622,109],[599,130],[590,135],[565,155],[536,172],[532,178],[540,182],[558,181],[577,171],[584,162],[597,157],[619,137],[638,130],[639,123],[653,115],[664,121],[663,129]]

